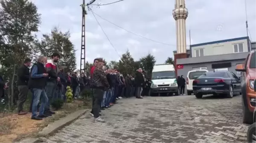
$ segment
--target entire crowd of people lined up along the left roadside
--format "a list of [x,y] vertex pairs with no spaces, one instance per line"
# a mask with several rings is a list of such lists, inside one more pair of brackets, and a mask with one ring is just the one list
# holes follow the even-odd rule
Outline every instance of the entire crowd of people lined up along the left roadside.
[[[91,89],[93,108],[90,113],[95,121],[103,121],[100,118],[101,110],[117,104],[117,100],[132,96],[142,99],[149,93],[151,82],[145,78],[145,73],[141,68],[136,71],[135,76],[129,74],[123,76],[118,69],[106,69],[103,59],[99,58],[93,62],[90,77],[86,77],[84,73],[66,73],[63,66],[57,65],[59,59],[58,53],[53,53],[49,60],[45,56],[40,56],[38,62],[32,67],[31,59],[24,60],[18,69],[18,115],[27,114],[23,110],[23,104],[28,98],[29,90],[32,93],[30,112],[32,112],[31,119],[33,120],[42,120],[55,114],[50,110],[50,103],[55,99],[66,101],[67,86],[71,87],[73,98],[79,98],[81,91],[86,87]],[[7,88],[7,82],[0,75],[1,98],[5,95]]]

